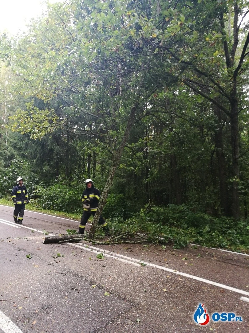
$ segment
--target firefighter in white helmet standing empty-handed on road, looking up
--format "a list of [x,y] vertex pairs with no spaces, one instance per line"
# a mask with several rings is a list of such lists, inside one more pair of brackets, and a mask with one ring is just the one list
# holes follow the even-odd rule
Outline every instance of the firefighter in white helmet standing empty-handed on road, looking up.
[[[23,215],[26,203],[29,203],[29,196],[26,186],[23,184],[23,178],[18,177],[17,185],[13,187],[11,192],[11,198],[15,205],[14,209],[14,221],[19,224],[23,224]],[[18,216],[19,215],[19,216]]]

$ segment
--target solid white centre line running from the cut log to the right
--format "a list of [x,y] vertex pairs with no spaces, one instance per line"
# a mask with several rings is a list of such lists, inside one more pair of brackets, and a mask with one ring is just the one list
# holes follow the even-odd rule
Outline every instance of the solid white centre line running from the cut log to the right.
[[[67,243],[67,244],[71,244],[71,243]],[[73,245],[73,244],[71,244],[71,245]],[[140,263],[144,263],[144,264],[146,264],[146,266],[151,266],[151,267],[155,267],[155,268],[158,268],[158,269],[162,269],[162,270],[165,270],[167,272],[171,272],[171,273],[174,273],[174,274],[178,274],[178,275],[182,275],[182,276],[185,276],[185,277],[189,277],[189,278],[197,280],[197,281],[205,282],[205,283],[211,284],[211,285],[216,286],[216,287],[220,287],[220,288],[223,288],[223,289],[227,289],[227,290],[230,290],[230,291],[237,292],[237,293],[242,294],[242,295],[249,296],[249,292],[241,290],[241,289],[233,288],[233,287],[227,286],[225,284],[221,284],[221,283],[217,283],[217,282],[214,282],[214,281],[210,281],[210,280],[207,280],[207,279],[204,279],[202,277],[195,276],[195,275],[190,275],[190,274],[187,274],[187,273],[179,272],[179,271],[176,271],[176,270],[171,269],[171,268],[166,268],[166,267],[163,267],[163,266],[151,264],[151,263],[143,261],[143,260],[139,260],[139,259],[127,257],[125,255],[122,255],[122,254],[119,254],[119,253],[115,253],[115,252],[111,252],[111,251],[104,250],[104,249],[100,249],[98,247],[94,247],[94,246],[90,246],[90,245],[85,245],[85,244],[82,244],[82,245],[83,245],[83,247],[80,246],[80,245],[77,245],[77,247],[86,248],[86,246],[88,246],[88,248],[90,248],[90,249],[92,248],[92,249],[98,251],[99,253],[103,253],[103,255],[106,255],[106,253],[110,253],[109,256],[111,256],[111,257],[112,256],[116,256],[116,257],[121,257],[121,258],[128,259],[128,260],[132,260],[132,261],[135,261],[135,262],[138,262],[138,263],[139,262]]]

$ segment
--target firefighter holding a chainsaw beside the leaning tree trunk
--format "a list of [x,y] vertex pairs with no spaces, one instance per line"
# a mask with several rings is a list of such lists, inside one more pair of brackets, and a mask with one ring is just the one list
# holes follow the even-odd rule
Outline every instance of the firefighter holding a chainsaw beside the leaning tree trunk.
[[[92,179],[86,179],[85,183],[86,189],[83,191],[81,196],[81,201],[85,207],[80,220],[79,233],[84,233],[86,222],[91,215],[95,215],[100,199],[100,191],[94,187]],[[102,215],[100,216],[99,224],[105,231],[105,234],[109,235],[109,227]]]

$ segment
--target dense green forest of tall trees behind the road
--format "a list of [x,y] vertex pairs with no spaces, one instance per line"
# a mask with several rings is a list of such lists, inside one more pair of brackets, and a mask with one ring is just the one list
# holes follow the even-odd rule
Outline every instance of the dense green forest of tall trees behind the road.
[[79,212],[92,178],[100,212],[126,227],[246,244],[248,13],[239,0],[68,0],[0,34],[0,195],[22,176],[33,204]]

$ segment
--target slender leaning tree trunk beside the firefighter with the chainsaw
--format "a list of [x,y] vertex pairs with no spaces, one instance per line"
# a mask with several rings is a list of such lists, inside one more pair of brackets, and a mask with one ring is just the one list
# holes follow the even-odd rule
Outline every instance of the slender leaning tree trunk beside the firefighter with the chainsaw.
[[112,181],[113,181],[113,178],[114,178],[114,175],[115,175],[116,168],[119,165],[121,156],[122,156],[123,151],[124,151],[125,144],[127,142],[127,139],[128,139],[128,136],[129,136],[129,133],[130,133],[130,130],[131,130],[131,127],[134,123],[135,111],[136,111],[136,105],[133,105],[131,107],[131,110],[130,110],[130,115],[129,115],[129,118],[128,118],[128,121],[127,121],[126,129],[125,129],[124,136],[123,136],[122,142],[120,144],[120,147],[113,154],[113,163],[112,163],[111,170],[109,172],[109,176],[108,176],[106,184],[105,184],[105,188],[104,188],[103,193],[101,195],[101,199],[99,201],[98,209],[97,209],[96,214],[95,214],[94,219],[93,219],[93,223],[92,223],[89,235],[88,235],[89,239],[93,239],[93,237],[95,235],[95,231],[96,231],[96,228],[97,228],[97,225],[98,225],[98,221],[100,219],[100,215],[102,214],[103,208],[106,204],[106,200],[107,200],[109,190],[112,186]]

